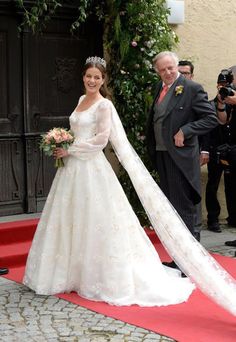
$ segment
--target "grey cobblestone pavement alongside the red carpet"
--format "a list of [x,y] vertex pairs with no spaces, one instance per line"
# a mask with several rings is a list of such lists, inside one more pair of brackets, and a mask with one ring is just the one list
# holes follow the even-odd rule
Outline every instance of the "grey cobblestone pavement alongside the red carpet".
[[[202,232],[210,251],[234,256],[224,245],[236,238],[236,229]],[[27,287],[0,277],[0,341],[4,342],[167,342],[151,331],[97,314],[54,296],[38,296]]]

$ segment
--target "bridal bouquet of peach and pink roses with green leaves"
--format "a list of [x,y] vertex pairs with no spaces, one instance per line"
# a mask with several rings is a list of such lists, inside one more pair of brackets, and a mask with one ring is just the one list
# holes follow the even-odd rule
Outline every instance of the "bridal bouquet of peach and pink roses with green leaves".
[[[68,149],[70,144],[74,141],[74,136],[71,131],[66,128],[55,127],[46,134],[41,135],[40,149],[46,156],[52,156],[56,147]],[[56,159],[56,167],[64,166],[62,158]]]

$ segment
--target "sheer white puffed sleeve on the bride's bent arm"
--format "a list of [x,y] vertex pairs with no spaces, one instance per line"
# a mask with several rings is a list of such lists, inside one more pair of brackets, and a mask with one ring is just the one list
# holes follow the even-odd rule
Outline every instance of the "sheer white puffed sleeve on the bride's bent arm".
[[75,141],[68,149],[69,154],[85,159],[86,155],[89,157],[88,154],[102,151],[110,136],[111,113],[111,106],[108,101],[99,103],[96,110],[95,135],[87,140]]

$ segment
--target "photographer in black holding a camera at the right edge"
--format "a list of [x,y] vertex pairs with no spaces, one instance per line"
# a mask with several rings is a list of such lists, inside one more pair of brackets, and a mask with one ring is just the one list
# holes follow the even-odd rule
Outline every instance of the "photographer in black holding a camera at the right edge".
[[206,209],[208,229],[217,233],[221,232],[219,226],[221,208],[217,191],[222,173],[224,173],[228,225],[236,227],[236,151],[233,153],[233,149],[236,149],[236,92],[232,89],[232,82],[231,70],[222,70],[217,79],[218,94],[212,101],[220,124],[209,133],[210,158],[207,165]]

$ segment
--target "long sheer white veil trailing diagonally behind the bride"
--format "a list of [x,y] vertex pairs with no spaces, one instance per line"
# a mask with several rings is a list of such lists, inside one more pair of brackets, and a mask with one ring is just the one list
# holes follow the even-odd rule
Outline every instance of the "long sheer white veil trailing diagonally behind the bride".
[[236,315],[236,281],[192,236],[130,145],[120,118],[112,106],[110,142],[125,168],[169,255],[196,286],[213,301]]

